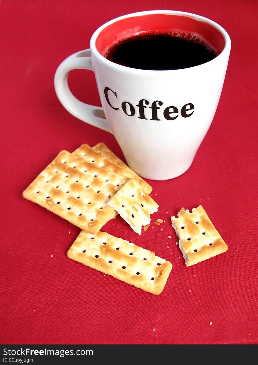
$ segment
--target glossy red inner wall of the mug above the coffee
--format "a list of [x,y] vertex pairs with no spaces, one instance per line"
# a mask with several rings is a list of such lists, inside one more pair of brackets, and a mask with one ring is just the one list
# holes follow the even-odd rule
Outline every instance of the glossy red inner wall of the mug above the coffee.
[[193,39],[195,42],[206,43],[216,55],[225,47],[222,33],[214,26],[190,15],[179,14],[144,14],[117,20],[101,30],[95,45],[98,52],[105,56],[111,46],[136,34],[172,34]]

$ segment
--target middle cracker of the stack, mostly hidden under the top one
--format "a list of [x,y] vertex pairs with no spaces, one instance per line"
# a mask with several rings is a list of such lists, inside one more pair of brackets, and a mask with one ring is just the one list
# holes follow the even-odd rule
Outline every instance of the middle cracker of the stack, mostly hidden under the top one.
[[[140,184],[144,188],[145,192],[147,194],[152,192],[152,187],[148,183],[146,183],[146,181],[144,181],[140,176],[136,175],[133,172],[133,170],[130,171],[122,166],[118,166],[114,162],[110,161],[107,157],[105,157],[105,155],[103,155],[99,151],[101,151],[101,149],[98,149],[98,152],[97,152],[93,148],[91,148],[89,145],[84,143],[79,148],[77,148],[73,152],[73,154],[76,155],[77,157],[83,158],[83,160],[90,162],[91,164],[97,165],[101,168],[105,168],[105,169],[113,171],[113,172],[116,172],[125,177],[129,177],[129,178],[138,177],[138,179],[140,180]],[[111,152],[111,154],[113,154],[113,152]],[[116,156],[116,155],[114,155],[114,156]],[[127,166],[127,168],[128,168],[128,166]]]

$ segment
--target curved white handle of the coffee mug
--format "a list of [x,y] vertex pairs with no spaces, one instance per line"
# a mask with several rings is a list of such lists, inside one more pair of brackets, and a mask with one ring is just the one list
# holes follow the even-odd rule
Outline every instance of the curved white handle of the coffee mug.
[[95,107],[79,101],[70,91],[67,78],[71,70],[82,69],[93,71],[90,49],[76,52],[67,57],[55,73],[55,92],[64,108],[76,118],[92,126],[112,133],[106,120],[103,108]]

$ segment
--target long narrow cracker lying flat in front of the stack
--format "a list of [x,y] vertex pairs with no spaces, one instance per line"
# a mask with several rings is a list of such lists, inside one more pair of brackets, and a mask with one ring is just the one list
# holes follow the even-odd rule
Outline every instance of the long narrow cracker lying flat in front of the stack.
[[154,252],[105,232],[81,231],[67,256],[155,295],[163,291],[172,269]]

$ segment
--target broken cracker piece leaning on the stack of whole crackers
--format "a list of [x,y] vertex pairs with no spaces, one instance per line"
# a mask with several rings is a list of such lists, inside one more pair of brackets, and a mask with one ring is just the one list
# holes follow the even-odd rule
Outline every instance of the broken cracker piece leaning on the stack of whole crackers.
[[157,212],[159,207],[134,178],[128,180],[107,204],[114,208],[139,235],[142,226],[150,223],[150,214]]

